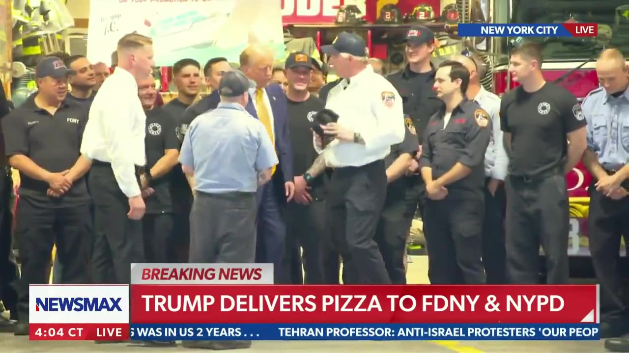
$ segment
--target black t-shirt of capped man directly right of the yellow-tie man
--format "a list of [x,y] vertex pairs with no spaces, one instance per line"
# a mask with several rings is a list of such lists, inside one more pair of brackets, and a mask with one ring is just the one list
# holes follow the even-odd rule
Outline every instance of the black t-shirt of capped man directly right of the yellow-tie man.
[[[293,170],[295,176],[303,175],[319,156],[313,146],[313,117],[325,107],[323,100],[311,95],[303,102],[287,99],[288,128],[291,131]],[[323,176],[313,181],[312,197],[320,197],[323,193]]]

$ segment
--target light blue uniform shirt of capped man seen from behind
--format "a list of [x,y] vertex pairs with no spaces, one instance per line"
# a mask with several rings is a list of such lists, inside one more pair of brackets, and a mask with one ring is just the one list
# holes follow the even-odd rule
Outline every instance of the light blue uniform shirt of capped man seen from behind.
[[258,119],[237,103],[220,103],[190,124],[179,162],[194,169],[196,190],[255,192],[257,172],[278,163],[275,147]]

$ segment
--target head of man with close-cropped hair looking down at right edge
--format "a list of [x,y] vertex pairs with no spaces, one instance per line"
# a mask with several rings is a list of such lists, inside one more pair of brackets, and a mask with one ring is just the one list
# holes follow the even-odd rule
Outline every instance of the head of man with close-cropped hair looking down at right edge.
[[596,75],[609,94],[623,92],[629,84],[625,57],[618,49],[606,49],[596,60]]

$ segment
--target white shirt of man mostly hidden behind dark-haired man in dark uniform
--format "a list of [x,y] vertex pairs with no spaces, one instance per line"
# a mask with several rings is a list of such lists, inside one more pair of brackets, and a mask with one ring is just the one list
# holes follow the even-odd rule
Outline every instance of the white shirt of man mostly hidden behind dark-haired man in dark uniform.
[[484,109],[491,119],[491,138],[485,153],[485,175],[504,180],[507,175],[509,158],[504,149],[503,131],[500,129],[500,97],[482,88],[474,101]]

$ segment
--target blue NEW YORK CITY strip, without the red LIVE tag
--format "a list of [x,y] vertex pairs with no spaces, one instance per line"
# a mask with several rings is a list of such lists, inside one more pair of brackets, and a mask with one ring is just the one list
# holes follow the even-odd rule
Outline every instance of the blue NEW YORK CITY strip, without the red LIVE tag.
[[459,23],[461,37],[571,37],[572,34],[560,23]]

